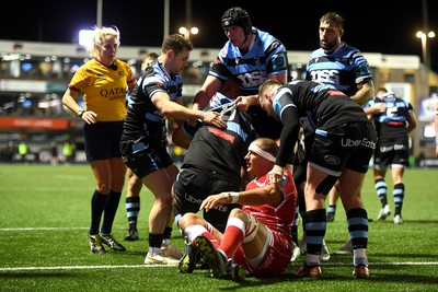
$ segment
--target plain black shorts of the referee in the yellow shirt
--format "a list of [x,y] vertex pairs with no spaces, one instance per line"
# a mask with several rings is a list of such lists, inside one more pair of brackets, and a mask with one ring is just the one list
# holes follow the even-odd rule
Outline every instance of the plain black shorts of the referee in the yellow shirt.
[[122,157],[120,137],[123,133],[123,120],[99,121],[83,125],[83,139],[87,161],[108,160]]

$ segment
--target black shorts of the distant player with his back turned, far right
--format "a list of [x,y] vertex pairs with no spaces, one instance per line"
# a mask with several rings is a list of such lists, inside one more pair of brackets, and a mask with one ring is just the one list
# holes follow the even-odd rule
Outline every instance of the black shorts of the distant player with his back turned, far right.
[[385,171],[390,165],[410,166],[408,139],[381,142],[374,151],[374,168]]

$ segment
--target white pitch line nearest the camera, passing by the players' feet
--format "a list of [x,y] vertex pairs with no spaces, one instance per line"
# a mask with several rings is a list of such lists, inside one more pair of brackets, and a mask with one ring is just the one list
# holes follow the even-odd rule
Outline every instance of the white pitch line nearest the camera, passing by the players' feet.
[[[405,261],[405,262],[370,262],[370,267],[374,266],[437,266],[438,261]],[[350,266],[345,262],[321,262],[321,266]],[[8,267],[0,268],[1,271],[31,271],[31,270],[92,270],[92,269],[134,269],[134,268],[158,268],[168,267],[175,268],[177,264],[169,265],[115,265],[115,266],[55,266],[55,267]]]

